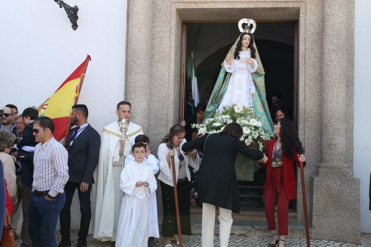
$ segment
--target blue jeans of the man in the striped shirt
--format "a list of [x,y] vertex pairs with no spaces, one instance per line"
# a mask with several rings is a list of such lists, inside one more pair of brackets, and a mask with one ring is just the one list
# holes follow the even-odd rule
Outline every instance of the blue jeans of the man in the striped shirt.
[[45,199],[45,195],[31,193],[28,207],[28,234],[33,247],[55,246],[55,227],[60,211],[65,205],[66,194],[58,194],[52,201]]

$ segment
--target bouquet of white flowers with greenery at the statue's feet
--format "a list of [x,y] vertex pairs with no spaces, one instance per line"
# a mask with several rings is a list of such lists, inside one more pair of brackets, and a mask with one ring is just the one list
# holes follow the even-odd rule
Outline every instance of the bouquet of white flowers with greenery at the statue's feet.
[[237,104],[224,106],[223,111],[216,110],[213,118],[205,120],[204,124],[193,124],[192,128],[198,128],[201,135],[221,132],[228,123],[236,122],[242,127],[243,135],[240,138],[247,146],[259,144],[259,150],[262,151],[263,144],[259,139],[269,140],[269,135],[262,129],[262,123],[259,118],[250,118],[253,107],[244,107]]

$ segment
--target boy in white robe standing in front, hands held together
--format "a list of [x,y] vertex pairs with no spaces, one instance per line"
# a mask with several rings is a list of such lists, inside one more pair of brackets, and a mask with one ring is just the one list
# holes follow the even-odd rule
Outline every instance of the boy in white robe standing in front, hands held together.
[[124,191],[116,235],[116,247],[147,245],[150,220],[150,196],[157,189],[153,170],[143,162],[146,146],[136,143],[132,148],[134,161],[121,172],[120,188]]

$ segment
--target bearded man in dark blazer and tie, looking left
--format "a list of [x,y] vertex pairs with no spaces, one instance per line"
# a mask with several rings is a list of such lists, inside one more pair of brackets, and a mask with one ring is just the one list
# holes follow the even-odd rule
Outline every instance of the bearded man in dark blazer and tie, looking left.
[[93,172],[98,164],[101,136],[88,123],[88,108],[86,105],[72,106],[70,118],[72,124],[76,125],[76,127],[71,129],[65,146],[68,151],[69,179],[65,185],[66,202],[59,214],[62,240],[58,247],[71,246],[70,207],[76,188],[78,189],[81,211],[77,246],[85,247],[87,246],[86,237],[88,237],[91,220],[90,194],[92,183],[94,182]]

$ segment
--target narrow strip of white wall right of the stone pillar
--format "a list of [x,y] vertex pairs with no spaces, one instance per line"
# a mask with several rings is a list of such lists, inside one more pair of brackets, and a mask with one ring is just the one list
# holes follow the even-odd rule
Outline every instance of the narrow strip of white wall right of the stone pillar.
[[[354,177],[361,179],[361,232],[371,233],[368,190],[371,171],[371,1],[355,0]],[[346,120],[346,114],[344,116]]]

